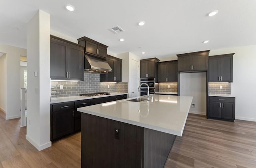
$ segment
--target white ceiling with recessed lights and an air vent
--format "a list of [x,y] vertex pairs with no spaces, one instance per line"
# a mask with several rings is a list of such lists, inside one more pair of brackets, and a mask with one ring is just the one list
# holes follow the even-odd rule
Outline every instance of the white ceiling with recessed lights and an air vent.
[[[38,9],[51,15],[54,31],[87,36],[115,54],[160,58],[256,44],[256,0],[1,0],[0,43],[26,48],[26,24]],[[125,31],[108,31],[116,25]]]

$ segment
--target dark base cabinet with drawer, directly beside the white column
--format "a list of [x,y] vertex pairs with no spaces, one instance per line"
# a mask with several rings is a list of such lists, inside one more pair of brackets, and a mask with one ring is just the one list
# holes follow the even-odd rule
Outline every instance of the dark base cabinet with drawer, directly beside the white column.
[[52,139],[74,132],[74,102],[52,105]]

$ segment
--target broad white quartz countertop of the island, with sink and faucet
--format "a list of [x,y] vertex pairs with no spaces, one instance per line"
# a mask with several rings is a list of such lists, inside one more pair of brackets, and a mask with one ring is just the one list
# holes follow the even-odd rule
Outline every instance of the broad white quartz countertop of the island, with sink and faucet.
[[[140,96],[140,98],[145,98],[145,96]],[[150,101],[129,102],[126,100],[134,98],[128,98],[81,107],[77,110],[83,113],[182,136],[192,98],[191,96],[155,94],[150,95]]]

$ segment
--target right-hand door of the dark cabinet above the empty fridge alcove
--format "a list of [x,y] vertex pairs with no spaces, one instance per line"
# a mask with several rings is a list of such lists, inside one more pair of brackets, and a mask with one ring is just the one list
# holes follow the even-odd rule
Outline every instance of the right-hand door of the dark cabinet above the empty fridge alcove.
[[208,68],[207,55],[191,56],[192,70],[207,70]]

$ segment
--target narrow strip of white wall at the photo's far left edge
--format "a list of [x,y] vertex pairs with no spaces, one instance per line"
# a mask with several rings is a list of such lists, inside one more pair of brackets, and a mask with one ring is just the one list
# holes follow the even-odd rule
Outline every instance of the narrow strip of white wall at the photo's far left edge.
[[7,98],[7,60],[6,54],[0,57],[0,109],[6,113]]

